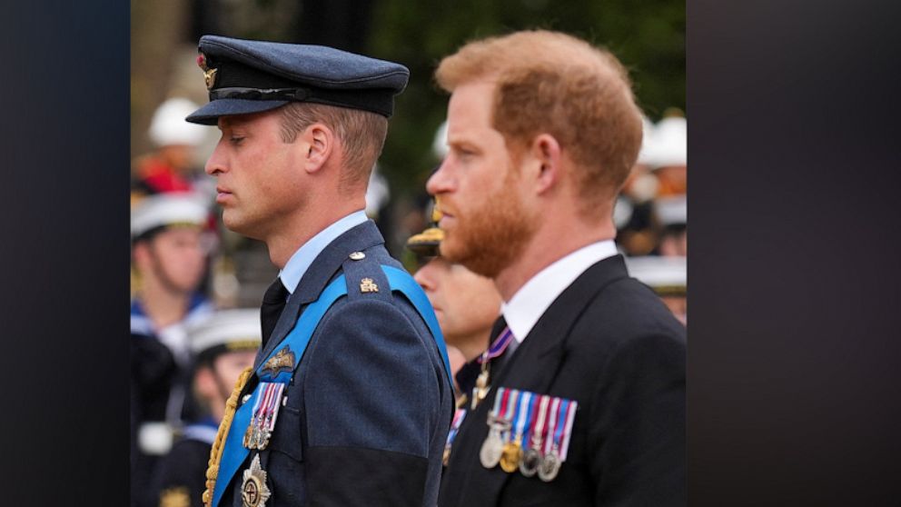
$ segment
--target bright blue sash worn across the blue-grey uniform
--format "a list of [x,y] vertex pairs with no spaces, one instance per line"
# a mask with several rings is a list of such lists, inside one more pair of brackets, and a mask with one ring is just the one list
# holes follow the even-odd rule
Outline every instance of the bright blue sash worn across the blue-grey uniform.
[[[429,298],[422,292],[422,288],[415,280],[413,280],[410,273],[385,265],[381,266],[381,270],[385,273],[385,276],[388,277],[388,283],[391,285],[391,290],[403,293],[403,295],[413,304],[413,307],[416,308],[416,311],[421,315],[422,320],[429,326],[429,331],[431,331],[431,335],[438,345],[438,350],[441,352],[441,359],[444,362],[444,369],[448,374],[448,380],[451,382],[451,385],[453,385],[451,363],[448,360],[447,347],[444,345],[444,336],[441,334],[441,328],[438,326],[438,319],[435,318],[435,312],[431,308]],[[274,379],[268,378],[271,377],[271,375],[262,373],[262,367],[277,353],[276,351],[273,351],[264,361],[260,362],[260,365],[253,374],[256,375],[257,378],[266,377],[266,382],[289,383],[294,371],[296,371],[301,364],[303,353],[310,343],[312,333],[316,331],[319,321],[322,320],[322,316],[332,307],[332,304],[337,301],[338,298],[345,294],[347,294],[347,283],[342,274],[325,287],[325,290],[319,295],[319,299],[306,307],[301,313],[301,317],[294,325],[294,329],[292,329],[291,333],[288,333],[284,340],[282,340],[282,344],[289,346],[291,351],[295,354],[296,359],[294,361],[293,371],[280,372]],[[282,350],[282,348],[283,346],[277,347],[278,350]],[[238,468],[244,460],[247,459],[247,455],[250,453],[250,451],[243,446],[243,429],[247,428],[247,425],[251,422],[252,407],[256,403],[256,399],[260,396],[260,393],[261,390],[259,387],[254,389],[251,398],[246,403],[242,403],[234,413],[232,425],[229,427],[228,433],[225,436],[222,460],[219,462],[219,473],[217,474],[216,484],[213,489],[213,507],[218,505],[219,501],[222,500],[225,488],[232,482],[235,472],[238,471]]]

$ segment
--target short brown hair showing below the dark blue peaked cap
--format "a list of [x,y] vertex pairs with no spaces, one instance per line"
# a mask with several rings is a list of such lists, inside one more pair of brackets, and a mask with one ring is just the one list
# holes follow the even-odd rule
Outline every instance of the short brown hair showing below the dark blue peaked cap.
[[311,124],[326,124],[341,140],[344,167],[341,189],[369,181],[388,134],[388,119],[381,114],[335,105],[291,103],[282,110],[282,141],[292,143]]

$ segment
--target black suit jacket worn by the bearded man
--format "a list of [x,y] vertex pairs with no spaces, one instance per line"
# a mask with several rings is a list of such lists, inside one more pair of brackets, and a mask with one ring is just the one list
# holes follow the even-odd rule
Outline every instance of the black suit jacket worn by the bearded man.
[[[616,255],[559,295],[467,414],[441,507],[685,504],[685,327]],[[498,387],[579,402],[552,482],[479,461]]]

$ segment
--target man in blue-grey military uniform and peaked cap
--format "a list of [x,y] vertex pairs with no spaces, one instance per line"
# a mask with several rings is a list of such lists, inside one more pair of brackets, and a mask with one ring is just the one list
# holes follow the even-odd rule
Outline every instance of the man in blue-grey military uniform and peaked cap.
[[[205,35],[223,223],[269,248],[262,347],[213,443],[212,505],[434,505],[453,392],[428,299],[363,209],[406,67]],[[242,385],[243,384],[243,385]]]

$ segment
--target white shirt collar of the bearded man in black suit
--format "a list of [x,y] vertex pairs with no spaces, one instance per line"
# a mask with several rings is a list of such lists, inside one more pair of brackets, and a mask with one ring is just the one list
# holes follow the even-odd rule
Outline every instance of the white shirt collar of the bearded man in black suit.
[[500,304],[500,313],[507,320],[516,341],[522,343],[548,309],[570,283],[585,273],[591,265],[619,254],[613,240],[589,244],[559,258],[532,276],[510,301]]

